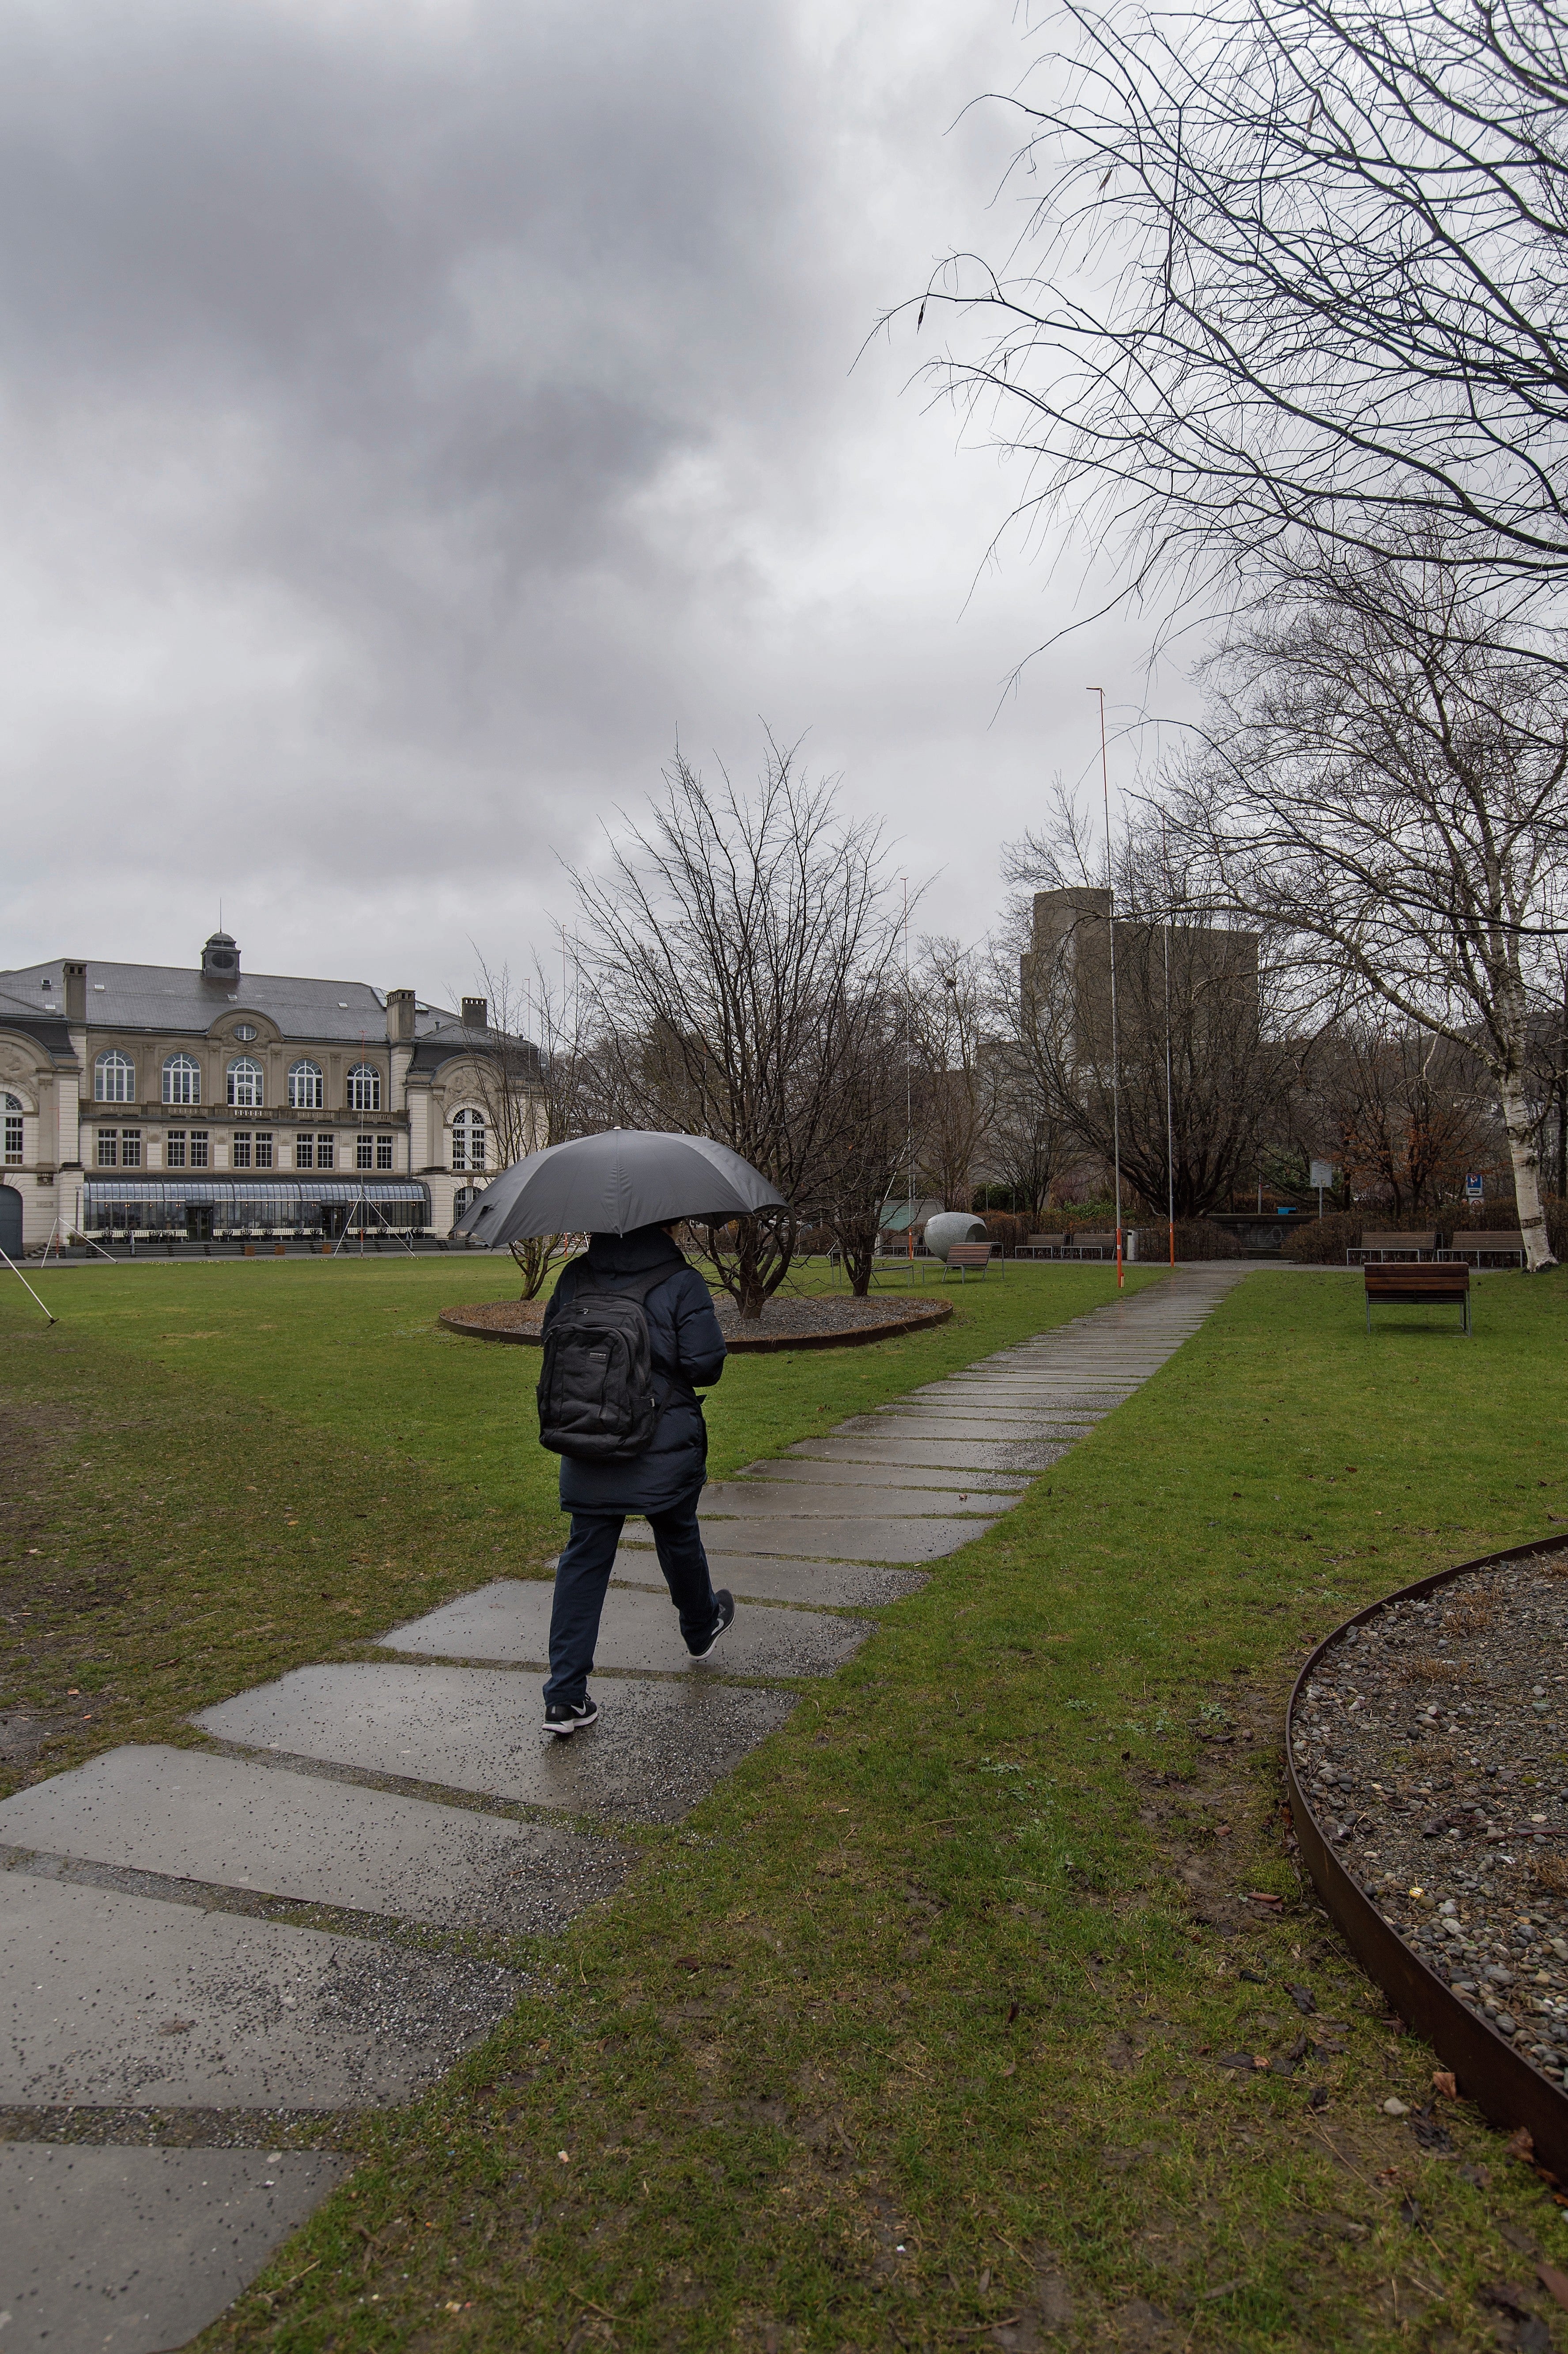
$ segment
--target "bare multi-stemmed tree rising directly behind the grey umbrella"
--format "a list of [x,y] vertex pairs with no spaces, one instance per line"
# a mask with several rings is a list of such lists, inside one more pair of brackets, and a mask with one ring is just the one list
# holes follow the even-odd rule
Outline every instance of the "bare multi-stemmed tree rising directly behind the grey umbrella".
[[832,784],[771,739],[750,796],[677,753],[651,814],[574,885],[616,1102],[637,1125],[717,1137],[785,1198],[710,1229],[722,1285],[759,1316],[853,1142],[849,1080],[898,944],[879,829],[844,819]]

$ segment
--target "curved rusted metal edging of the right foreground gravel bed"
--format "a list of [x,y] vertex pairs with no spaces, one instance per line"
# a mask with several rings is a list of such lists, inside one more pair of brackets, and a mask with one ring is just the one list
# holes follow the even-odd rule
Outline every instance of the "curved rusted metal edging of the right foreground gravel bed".
[[1366,1627],[1392,1603],[1420,1601],[1425,1594],[1436,1594],[1441,1587],[1453,1584],[1455,1577],[1469,1577],[1474,1570],[1497,1570],[1509,1561],[1535,1561],[1561,1551],[1568,1551],[1568,1537],[1514,1544],[1507,1554],[1483,1554],[1479,1561],[1460,1561],[1458,1568],[1439,1570],[1434,1577],[1418,1577],[1413,1587],[1396,1587],[1394,1594],[1385,1594],[1380,1601],[1368,1603],[1366,1610],[1356,1610],[1354,1617],[1342,1620],[1309,1653],[1307,1664],[1291,1688],[1286,1707],[1286,1791],[1295,1838],[1316,1893],[1331,1919],[1342,1928],[1366,1975],[1382,1987],[1406,2027],[1415,2027],[1439,2060],[1453,2069],[1465,2100],[1474,2100],[1476,2109],[1507,2133],[1526,2126],[1535,2156],[1568,2182],[1568,2095],[1549,2076],[1542,2076],[1523,2053],[1514,2050],[1495,2027],[1469,2010],[1427,1968],[1415,1947],[1406,1944],[1396,1928],[1389,1928],[1324,1838],[1316,1815],[1295,1777],[1295,1709],[1326,1653],[1342,1641],[1349,1627]]

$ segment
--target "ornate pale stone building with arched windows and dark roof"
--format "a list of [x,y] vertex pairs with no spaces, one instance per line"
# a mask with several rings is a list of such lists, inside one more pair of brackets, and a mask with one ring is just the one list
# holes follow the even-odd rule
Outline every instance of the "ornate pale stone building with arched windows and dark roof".
[[0,972],[0,1248],[447,1233],[531,1132],[538,1055],[411,989],[200,965]]

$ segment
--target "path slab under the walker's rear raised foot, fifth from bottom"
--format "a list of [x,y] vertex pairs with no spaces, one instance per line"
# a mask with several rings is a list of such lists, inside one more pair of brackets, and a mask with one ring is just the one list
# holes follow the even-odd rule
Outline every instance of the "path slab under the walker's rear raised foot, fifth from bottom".
[[[623,1540],[625,1544],[628,1540]],[[649,1544],[651,1544],[649,1535]],[[832,1547],[830,1547],[832,1551]],[[919,1556],[917,1556],[919,1558]],[[409,1627],[381,1636],[386,1650],[411,1650],[444,1660],[550,1660],[550,1603],[555,1587],[541,1580],[498,1577],[494,1587]],[[738,1610],[729,1634],[708,1660],[686,1650],[665,1594],[611,1594],[599,1622],[595,1667],[654,1674],[708,1676],[830,1676],[851,1660],[870,1634],[865,1620],[811,1617],[809,1610]]]

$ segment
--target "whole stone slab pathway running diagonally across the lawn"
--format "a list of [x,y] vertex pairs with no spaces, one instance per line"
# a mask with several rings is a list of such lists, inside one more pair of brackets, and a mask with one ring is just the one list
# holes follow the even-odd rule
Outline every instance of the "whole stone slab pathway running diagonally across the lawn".
[[[113,1749],[2,1801],[2,2354],[162,2354],[216,2319],[350,2166],[268,2152],[277,2114],[433,2083],[524,1984],[463,1935],[609,1895],[616,1824],[696,1806],[875,1634],[860,1612],[1011,1511],[1244,1274],[1180,1269],[710,1485],[715,1584],[748,1608],[701,1667],[628,1523],[574,1742],[538,1730],[550,1587],[501,1580],[383,1664],[207,1709],[209,1749]],[[153,2109],[205,2147],[132,2144]]]

